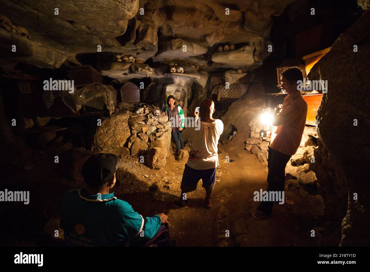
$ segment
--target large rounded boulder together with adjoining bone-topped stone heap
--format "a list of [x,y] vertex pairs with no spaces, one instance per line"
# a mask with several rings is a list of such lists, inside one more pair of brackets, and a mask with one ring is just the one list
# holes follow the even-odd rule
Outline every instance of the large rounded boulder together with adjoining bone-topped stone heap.
[[118,108],[101,121],[92,150],[134,156],[157,148],[155,152],[149,152],[147,164],[152,169],[164,167],[171,152],[168,117],[158,107],[148,104],[120,103]]

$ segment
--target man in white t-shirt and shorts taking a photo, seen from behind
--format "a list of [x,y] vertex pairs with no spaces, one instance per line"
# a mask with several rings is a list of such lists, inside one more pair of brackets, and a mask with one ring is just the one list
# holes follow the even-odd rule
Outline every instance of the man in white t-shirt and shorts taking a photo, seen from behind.
[[206,208],[212,207],[211,192],[215,185],[216,168],[218,162],[217,145],[223,131],[223,123],[219,119],[213,119],[215,104],[211,99],[204,99],[199,107],[199,113],[194,110],[195,121],[199,121],[199,130],[195,125],[186,127],[182,132],[184,139],[190,139],[190,154],[185,164],[181,181],[181,196],[176,204],[185,206],[189,201],[186,198],[187,192],[196,190],[196,185],[202,179],[203,187],[206,190],[206,197],[203,204]]

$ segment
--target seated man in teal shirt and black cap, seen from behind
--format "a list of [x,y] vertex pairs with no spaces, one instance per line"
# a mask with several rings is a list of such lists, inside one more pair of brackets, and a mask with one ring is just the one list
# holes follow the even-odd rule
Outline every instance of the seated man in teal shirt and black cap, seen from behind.
[[63,198],[60,227],[65,241],[70,246],[169,246],[167,215],[144,218],[109,193],[119,164],[116,155],[104,153],[85,162],[86,188],[69,191]]

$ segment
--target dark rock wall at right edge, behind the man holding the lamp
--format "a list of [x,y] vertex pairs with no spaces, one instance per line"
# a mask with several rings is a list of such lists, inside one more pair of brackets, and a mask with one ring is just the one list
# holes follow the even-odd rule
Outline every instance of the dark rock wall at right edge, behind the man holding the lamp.
[[343,171],[346,186],[340,190],[348,192],[342,246],[370,245],[369,25],[370,12],[366,11],[308,75],[310,80],[328,82],[316,124],[320,140]]

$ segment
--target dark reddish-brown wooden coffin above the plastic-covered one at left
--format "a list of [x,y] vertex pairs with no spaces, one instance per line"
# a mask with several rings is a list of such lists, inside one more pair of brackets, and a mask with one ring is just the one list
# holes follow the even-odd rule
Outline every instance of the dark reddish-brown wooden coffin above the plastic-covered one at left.
[[74,86],[103,84],[101,74],[90,65],[74,66],[68,71],[68,76],[74,80]]

